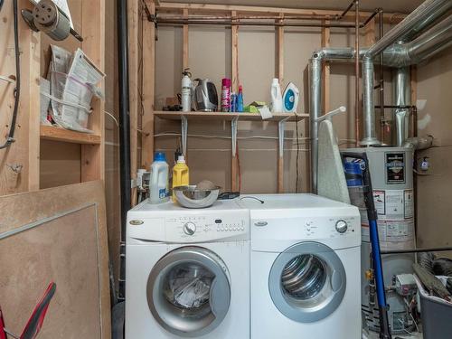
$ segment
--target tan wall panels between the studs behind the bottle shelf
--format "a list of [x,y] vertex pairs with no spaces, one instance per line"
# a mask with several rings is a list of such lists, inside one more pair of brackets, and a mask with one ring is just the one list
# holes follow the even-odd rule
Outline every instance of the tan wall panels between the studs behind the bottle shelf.
[[[365,31],[363,30],[363,34]],[[155,105],[161,109],[167,97],[180,92],[183,64],[183,30],[181,27],[160,26],[155,45]],[[363,45],[364,36],[362,36]],[[352,46],[353,30],[332,29],[332,46]],[[239,29],[239,80],[243,85],[245,105],[255,100],[270,101],[269,88],[276,74],[276,33],[272,27]],[[299,113],[308,110],[307,66],[309,58],[321,47],[320,29],[289,28],[284,34],[285,75],[282,87],[294,82],[300,89]],[[221,79],[231,77],[231,29],[221,26],[189,27],[189,65],[195,78],[209,78],[221,88]],[[344,105],[345,116],[334,118],[336,132],[343,146],[354,140],[354,68],[353,64],[338,63],[331,67],[331,108]],[[388,75],[388,80],[391,76]],[[388,99],[391,84],[388,82]],[[240,120],[239,120],[240,121]],[[295,123],[286,124],[285,182],[286,192],[296,191],[297,141]],[[165,136],[179,133],[180,125],[156,119],[155,150],[162,150],[171,162],[180,146],[180,137]],[[309,189],[308,174],[308,121],[298,123],[298,192]],[[193,184],[202,179],[212,180],[225,190],[231,189],[231,125],[223,122],[189,123],[188,158]],[[217,136],[207,138],[200,136]],[[239,139],[242,193],[275,193],[277,191],[278,124],[271,122],[241,122]]]

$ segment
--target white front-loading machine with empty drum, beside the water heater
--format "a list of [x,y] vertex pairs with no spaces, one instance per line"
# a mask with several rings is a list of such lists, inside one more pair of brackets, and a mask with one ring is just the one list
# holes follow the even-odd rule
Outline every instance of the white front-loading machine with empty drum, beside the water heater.
[[361,338],[358,209],[311,194],[240,203],[251,219],[251,338]]

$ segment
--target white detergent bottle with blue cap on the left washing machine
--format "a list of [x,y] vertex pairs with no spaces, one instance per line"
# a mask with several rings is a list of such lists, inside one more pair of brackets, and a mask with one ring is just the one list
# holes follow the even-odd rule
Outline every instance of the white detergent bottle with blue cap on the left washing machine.
[[166,163],[165,153],[155,152],[149,181],[149,201],[151,203],[169,201],[168,174],[169,165]]

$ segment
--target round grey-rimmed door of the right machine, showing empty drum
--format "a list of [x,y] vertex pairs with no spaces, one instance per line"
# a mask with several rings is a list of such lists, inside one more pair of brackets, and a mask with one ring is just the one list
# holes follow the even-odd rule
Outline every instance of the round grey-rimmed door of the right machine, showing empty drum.
[[313,323],[331,315],[341,304],[345,288],[341,259],[328,246],[312,241],[279,254],[268,279],[279,312],[298,323]]

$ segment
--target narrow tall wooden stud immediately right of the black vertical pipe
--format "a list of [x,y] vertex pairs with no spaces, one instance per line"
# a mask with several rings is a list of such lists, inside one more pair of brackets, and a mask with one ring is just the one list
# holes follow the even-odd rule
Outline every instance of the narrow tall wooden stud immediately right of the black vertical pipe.
[[[139,21],[142,20],[139,1],[127,2],[128,21],[128,84],[129,84],[129,117],[130,117],[130,177],[137,179],[138,166],[138,112],[141,102],[138,94],[139,67]],[[132,206],[137,202],[137,187],[131,191]]]

